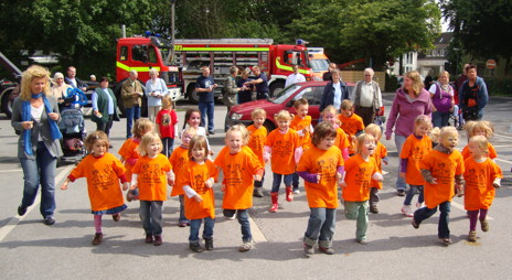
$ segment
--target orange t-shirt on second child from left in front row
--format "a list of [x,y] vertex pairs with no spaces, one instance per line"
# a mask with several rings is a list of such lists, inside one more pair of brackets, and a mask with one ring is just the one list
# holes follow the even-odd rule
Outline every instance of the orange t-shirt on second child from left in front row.
[[139,187],[139,200],[141,201],[166,201],[167,194],[167,172],[172,166],[166,155],[159,153],[154,159],[149,157],[140,158],[134,166],[134,174],[137,176]]

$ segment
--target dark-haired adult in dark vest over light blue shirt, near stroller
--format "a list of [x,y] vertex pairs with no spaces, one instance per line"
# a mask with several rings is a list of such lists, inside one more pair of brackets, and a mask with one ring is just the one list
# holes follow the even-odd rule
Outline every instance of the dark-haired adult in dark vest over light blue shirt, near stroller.
[[[113,121],[119,120],[117,115],[117,100],[114,91],[108,88],[108,78],[99,79],[99,87],[93,93],[93,115],[90,120],[96,122],[96,130],[102,130],[107,136],[110,133]],[[110,146],[111,148],[111,146]]]

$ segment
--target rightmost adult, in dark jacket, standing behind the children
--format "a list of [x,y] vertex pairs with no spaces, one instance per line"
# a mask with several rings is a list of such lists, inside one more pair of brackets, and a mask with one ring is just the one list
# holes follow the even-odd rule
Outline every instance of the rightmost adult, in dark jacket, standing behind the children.
[[481,120],[483,107],[489,101],[486,82],[477,76],[477,66],[468,66],[468,79],[462,84],[459,93],[459,104],[465,121]]

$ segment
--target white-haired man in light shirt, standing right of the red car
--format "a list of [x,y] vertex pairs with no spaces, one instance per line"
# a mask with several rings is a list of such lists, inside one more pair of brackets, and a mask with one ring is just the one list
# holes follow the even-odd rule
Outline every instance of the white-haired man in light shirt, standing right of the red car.
[[382,107],[381,87],[373,80],[374,74],[372,68],[365,68],[364,78],[355,84],[351,96],[355,115],[363,119],[364,127],[373,123],[375,114],[381,111]]

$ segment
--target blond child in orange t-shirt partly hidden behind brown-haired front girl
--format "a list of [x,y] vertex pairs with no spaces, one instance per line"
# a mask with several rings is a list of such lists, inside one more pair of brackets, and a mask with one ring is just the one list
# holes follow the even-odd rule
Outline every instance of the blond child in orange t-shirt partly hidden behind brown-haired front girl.
[[[189,143],[196,132],[198,130],[195,128],[189,127],[183,130],[183,133],[181,133],[181,146],[172,151],[171,158],[169,158],[169,162],[172,165],[174,174],[180,174],[181,168],[189,161]],[[185,216],[183,194],[184,192],[180,177],[177,177],[174,185],[172,186],[171,196],[178,195],[180,200],[180,217],[178,218],[179,227],[190,226],[190,222]]]

